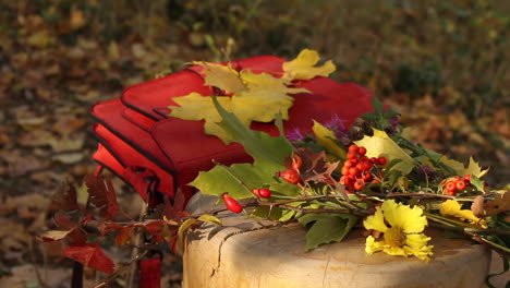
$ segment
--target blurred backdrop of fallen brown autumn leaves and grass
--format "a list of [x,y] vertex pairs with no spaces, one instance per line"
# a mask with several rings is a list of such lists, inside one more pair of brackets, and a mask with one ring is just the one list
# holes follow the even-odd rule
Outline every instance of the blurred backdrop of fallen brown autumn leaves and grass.
[[[510,2],[498,0],[0,1],[0,286],[69,286],[60,247],[32,236],[48,227],[59,183],[94,169],[90,106],[193,60],[318,50],[337,64],[335,80],[402,112],[415,141],[465,163],[473,155],[502,187],[509,32]],[[116,185],[137,215],[137,196]],[[179,261],[167,264],[179,287]]]

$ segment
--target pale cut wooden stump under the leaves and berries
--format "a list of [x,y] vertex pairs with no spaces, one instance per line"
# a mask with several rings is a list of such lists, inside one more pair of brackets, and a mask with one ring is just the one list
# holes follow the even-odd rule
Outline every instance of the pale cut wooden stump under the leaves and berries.
[[184,251],[185,288],[203,287],[484,287],[490,253],[479,244],[445,239],[433,229],[434,256],[365,253],[365,238],[353,230],[341,243],[306,252],[299,225],[259,229],[244,216],[222,218],[189,233]]

